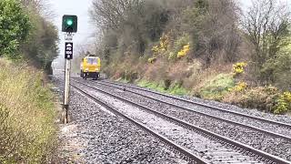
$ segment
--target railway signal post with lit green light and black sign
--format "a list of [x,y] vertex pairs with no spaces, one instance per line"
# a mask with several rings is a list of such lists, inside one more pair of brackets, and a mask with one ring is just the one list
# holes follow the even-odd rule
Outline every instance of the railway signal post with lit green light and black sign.
[[73,33],[77,31],[77,16],[64,15],[62,32],[65,32],[65,91],[63,104],[63,122],[68,123],[69,96],[70,96],[70,75],[71,59],[73,59]]

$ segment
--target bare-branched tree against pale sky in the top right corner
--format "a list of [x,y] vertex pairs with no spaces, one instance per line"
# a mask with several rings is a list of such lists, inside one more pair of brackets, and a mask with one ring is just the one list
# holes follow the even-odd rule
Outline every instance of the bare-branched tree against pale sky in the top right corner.
[[267,59],[276,56],[285,47],[289,33],[290,12],[276,0],[257,0],[242,20],[247,38],[255,48],[253,60],[262,67]]

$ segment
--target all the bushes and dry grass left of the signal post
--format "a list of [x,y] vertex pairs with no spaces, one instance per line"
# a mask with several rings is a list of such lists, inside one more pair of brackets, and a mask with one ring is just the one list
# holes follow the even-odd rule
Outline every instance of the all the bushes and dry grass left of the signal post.
[[45,73],[58,36],[45,10],[43,1],[0,1],[0,163],[49,162],[55,149],[55,100]]

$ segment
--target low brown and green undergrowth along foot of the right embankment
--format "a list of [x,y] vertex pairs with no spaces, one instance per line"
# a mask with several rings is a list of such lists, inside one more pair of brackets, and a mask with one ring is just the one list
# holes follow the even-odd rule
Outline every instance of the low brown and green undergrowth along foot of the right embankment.
[[[128,65],[128,62],[126,64]],[[125,63],[120,64],[123,65]],[[217,67],[201,71],[199,61],[180,60],[167,64],[163,59],[158,59],[154,64],[138,63],[135,67],[126,67],[124,72],[120,68],[116,77],[119,77],[117,81],[120,82],[136,83],[140,87],[171,95],[193,95],[274,114],[286,114],[291,111],[290,91],[282,92],[271,86],[249,85],[245,62],[234,64],[233,67]]]

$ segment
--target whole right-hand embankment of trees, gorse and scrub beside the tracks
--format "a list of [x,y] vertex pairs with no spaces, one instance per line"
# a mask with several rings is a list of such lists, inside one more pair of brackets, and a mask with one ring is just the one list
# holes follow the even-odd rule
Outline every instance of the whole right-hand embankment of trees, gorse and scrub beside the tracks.
[[[259,108],[291,110],[290,12],[276,0],[95,0],[95,54],[114,79]],[[174,91],[173,91],[174,90]]]

